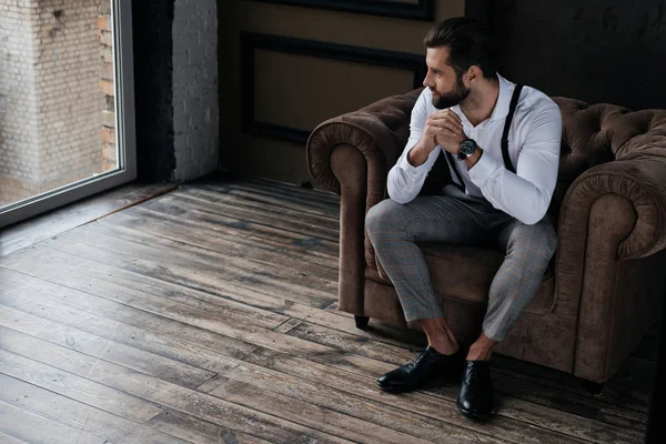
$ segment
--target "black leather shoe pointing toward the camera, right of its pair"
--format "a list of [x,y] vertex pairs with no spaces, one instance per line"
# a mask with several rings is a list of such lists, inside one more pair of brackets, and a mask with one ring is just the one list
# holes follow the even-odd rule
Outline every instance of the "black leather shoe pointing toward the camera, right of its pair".
[[487,420],[493,411],[493,383],[490,361],[467,361],[463,372],[458,411],[474,420]]

